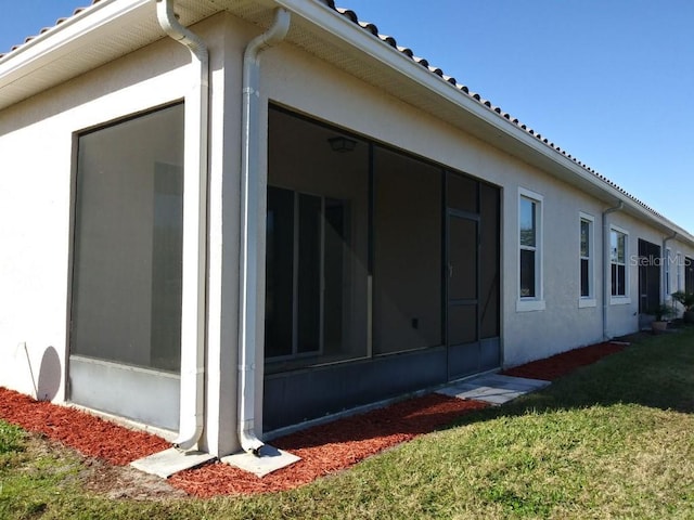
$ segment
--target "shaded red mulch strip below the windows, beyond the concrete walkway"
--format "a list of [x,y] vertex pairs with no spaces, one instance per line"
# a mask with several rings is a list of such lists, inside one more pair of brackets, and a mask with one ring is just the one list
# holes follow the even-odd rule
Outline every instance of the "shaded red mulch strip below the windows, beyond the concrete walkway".
[[504,370],[502,374],[553,381],[562,376],[566,376],[580,366],[593,364],[602,358],[621,352],[624,349],[625,346],[622,344],[606,341],[604,343],[591,344],[589,347],[569,350],[568,352],[562,352],[561,354],[545,358],[544,360],[532,361],[525,365]]

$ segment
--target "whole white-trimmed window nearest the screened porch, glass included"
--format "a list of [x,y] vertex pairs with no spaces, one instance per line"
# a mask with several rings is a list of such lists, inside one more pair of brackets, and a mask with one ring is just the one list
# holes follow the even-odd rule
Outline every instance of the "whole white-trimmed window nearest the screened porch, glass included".
[[519,299],[539,302],[542,300],[542,197],[526,190],[520,190],[518,197],[518,249]]

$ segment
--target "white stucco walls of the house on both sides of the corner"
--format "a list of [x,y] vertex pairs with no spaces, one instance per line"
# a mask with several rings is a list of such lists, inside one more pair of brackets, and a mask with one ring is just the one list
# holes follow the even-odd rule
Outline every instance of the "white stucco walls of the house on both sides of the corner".
[[[237,447],[236,347],[239,298],[239,187],[241,66],[255,26],[217,15],[193,30],[211,56],[208,207],[208,323],[204,446],[214,454]],[[54,401],[66,399],[67,316],[72,256],[75,132],[194,95],[188,51],[169,39],[0,112],[0,385]],[[502,188],[501,336],[504,365],[600,341],[603,335],[602,212],[608,207],[577,188],[385,94],[290,44],[261,57],[260,96],[311,117],[420,155]],[[462,95],[462,94],[461,94]],[[267,110],[260,132],[260,181],[267,183]],[[518,301],[518,193],[542,196],[543,310]],[[262,193],[262,192],[261,192]],[[594,302],[579,303],[579,222],[594,218]],[[622,213],[609,222],[629,232],[629,255],[640,237],[661,245],[651,226]],[[259,258],[265,256],[266,207],[257,214]],[[694,249],[670,240],[673,256]],[[258,272],[265,274],[262,262]],[[609,266],[609,264],[607,264]],[[679,268],[681,269],[681,268]],[[607,308],[611,335],[638,326],[638,271],[629,268],[631,301]],[[677,288],[672,271],[671,288]],[[681,274],[682,286],[684,274]],[[605,287],[609,291],[609,280]],[[670,290],[671,292],[672,290]],[[265,313],[265,281],[258,315]],[[609,298],[607,299],[609,303]],[[258,323],[257,359],[264,326]],[[29,361],[25,355],[26,342]],[[262,431],[262,363],[256,378],[256,431]]]

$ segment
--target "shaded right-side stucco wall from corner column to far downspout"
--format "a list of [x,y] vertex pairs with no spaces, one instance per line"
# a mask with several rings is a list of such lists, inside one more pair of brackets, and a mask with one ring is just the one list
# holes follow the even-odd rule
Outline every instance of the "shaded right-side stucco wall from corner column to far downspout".
[[[601,340],[602,291],[597,282],[595,304],[579,309],[578,240],[579,212],[594,217],[594,231],[599,233],[604,205],[288,46],[268,54],[262,67],[262,84],[266,86],[265,101],[280,103],[502,187],[502,338],[506,365]],[[261,150],[266,144],[261,144]],[[544,226],[543,233],[544,311],[516,311],[520,186],[544,197],[544,221],[551,223]],[[264,210],[258,216],[261,230],[265,229]],[[597,281],[602,258],[602,239],[597,235],[594,252]]]

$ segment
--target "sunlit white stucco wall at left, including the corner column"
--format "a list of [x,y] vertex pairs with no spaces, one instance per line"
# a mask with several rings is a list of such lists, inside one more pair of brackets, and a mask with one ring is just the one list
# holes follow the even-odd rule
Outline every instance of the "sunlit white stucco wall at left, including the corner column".
[[[236,394],[241,79],[240,65],[226,68],[223,60],[231,52],[240,63],[245,41],[254,34],[224,31],[226,23],[227,17],[219,15],[192,27],[208,44],[211,62],[206,370],[210,388],[203,442],[215,453],[234,447],[229,431],[235,427]],[[4,243],[0,249],[0,386],[55,402],[67,399],[77,132],[195,96],[198,79],[190,62],[185,48],[163,38],[0,112],[0,236]],[[239,92],[229,107],[223,95],[227,81],[232,92]],[[226,123],[224,117],[233,122]],[[231,153],[226,154],[227,150]],[[230,226],[222,226],[222,219]],[[220,417],[229,422],[223,434]]]

